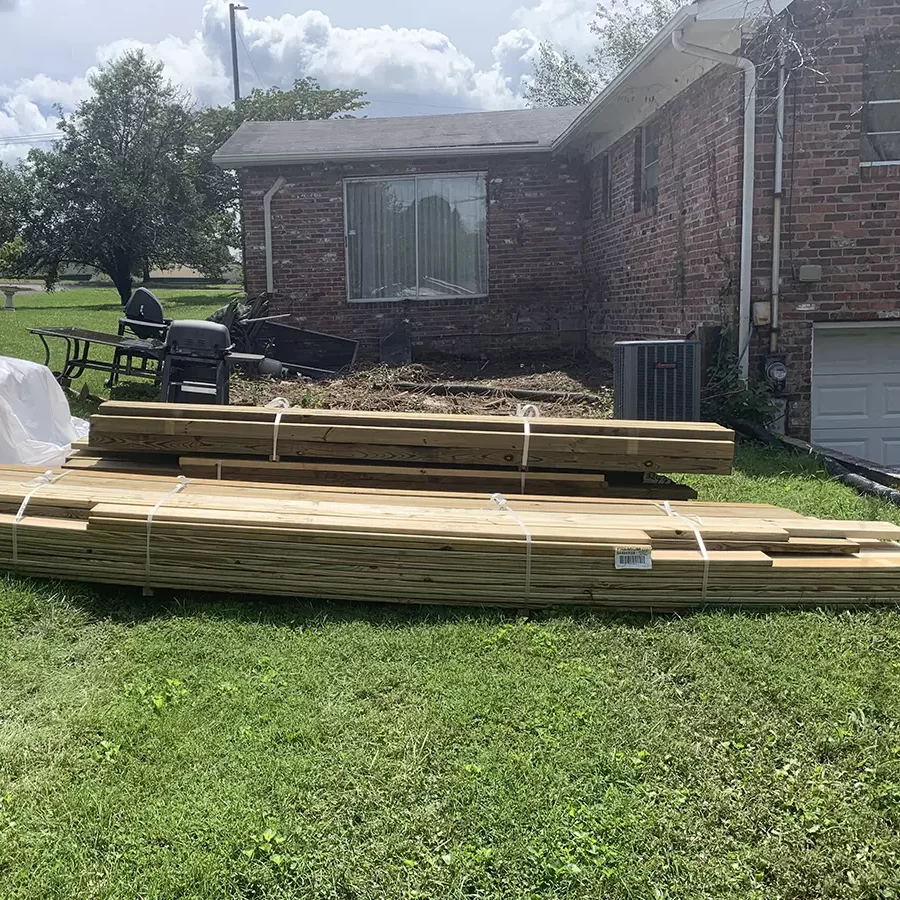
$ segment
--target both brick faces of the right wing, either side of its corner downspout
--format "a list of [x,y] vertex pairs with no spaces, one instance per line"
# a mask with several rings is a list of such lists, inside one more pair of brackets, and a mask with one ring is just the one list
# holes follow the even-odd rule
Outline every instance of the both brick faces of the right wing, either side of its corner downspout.
[[[795,0],[788,21],[812,54],[786,93],[782,321],[788,427],[809,430],[816,321],[900,318],[900,167],[860,167],[867,45],[900,37],[900,7],[879,0]],[[746,51],[758,54],[751,47]],[[760,62],[763,58],[758,56]],[[753,299],[771,296],[775,79],[760,66]],[[600,158],[588,164],[586,227],[591,345],[670,337],[704,322],[729,324],[739,287],[742,76],[718,66],[667,104],[655,212],[634,212],[635,133],[611,148],[612,212],[604,216]],[[816,284],[800,266],[822,266]],[[753,329],[751,377],[769,329]]]

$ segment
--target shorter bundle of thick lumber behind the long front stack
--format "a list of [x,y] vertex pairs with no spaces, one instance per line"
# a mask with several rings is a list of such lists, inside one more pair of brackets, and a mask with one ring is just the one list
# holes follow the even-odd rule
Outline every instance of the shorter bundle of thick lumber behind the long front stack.
[[640,496],[645,473],[729,473],[734,433],[705,422],[104,403],[73,467],[115,459],[108,469],[122,471],[129,456],[177,460],[191,477],[574,496],[613,483]]

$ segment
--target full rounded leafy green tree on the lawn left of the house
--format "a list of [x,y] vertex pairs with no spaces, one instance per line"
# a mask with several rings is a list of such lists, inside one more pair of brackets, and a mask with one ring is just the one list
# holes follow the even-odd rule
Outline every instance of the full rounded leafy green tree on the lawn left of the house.
[[23,265],[48,284],[64,264],[94,266],[123,303],[145,267],[219,274],[235,222],[204,193],[187,97],[142,51],[101,69],[91,87],[93,96],[60,119],[53,150],[28,156]]

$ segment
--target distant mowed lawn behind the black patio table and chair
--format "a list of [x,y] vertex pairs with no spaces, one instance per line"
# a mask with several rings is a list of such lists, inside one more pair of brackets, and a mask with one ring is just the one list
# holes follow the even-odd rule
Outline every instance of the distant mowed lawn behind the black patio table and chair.
[[[210,313],[224,306],[236,293],[233,285],[225,287],[157,288],[151,285],[169,319],[205,319]],[[16,356],[44,362],[41,339],[30,334],[29,328],[72,326],[89,331],[116,334],[122,304],[112,287],[61,287],[52,293],[16,295],[15,312],[0,310],[0,356]],[[132,335],[133,336],[133,335]],[[64,343],[58,338],[47,339],[52,351],[50,368],[57,371],[64,359]],[[92,358],[112,359],[112,348],[91,348]],[[75,390],[83,385],[92,393],[109,396],[105,386],[105,372],[88,371],[73,383]],[[148,382],[149,383],[149,382]]]

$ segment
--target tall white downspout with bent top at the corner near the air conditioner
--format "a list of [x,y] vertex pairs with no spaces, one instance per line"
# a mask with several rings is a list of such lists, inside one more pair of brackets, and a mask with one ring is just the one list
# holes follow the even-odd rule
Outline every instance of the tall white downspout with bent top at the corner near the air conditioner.
[[672,32],[672,46],[680,53],[741,69],[744,73],[744,183],[741,197],[741,288],[738,302],[738,360],[741,376],[750,374],[750,290],[753,264],[753,187],[756,180],[756,66],[743,56],[732,56],[684,40],[684,31]]

